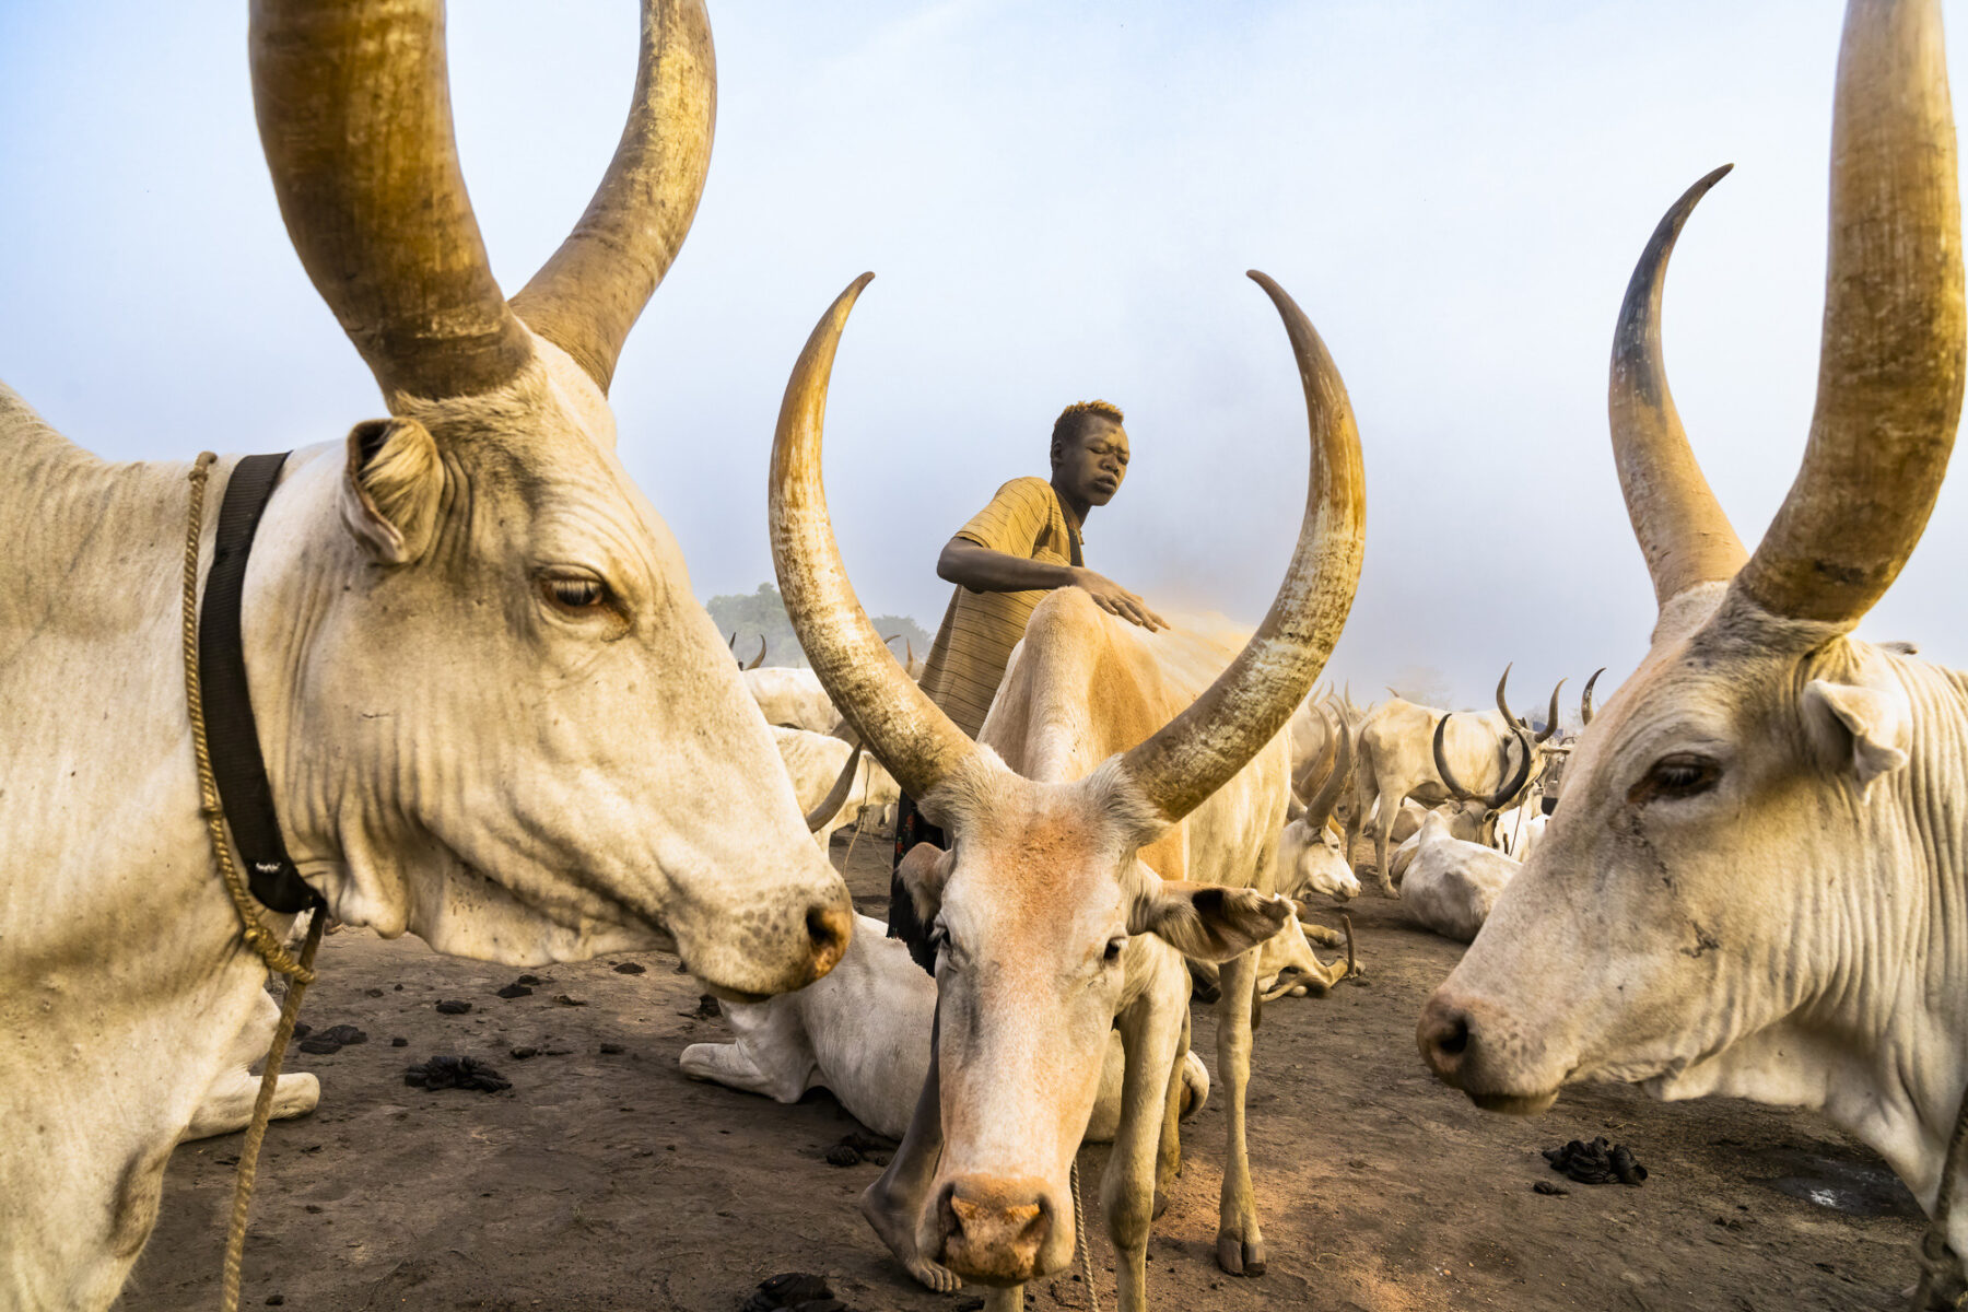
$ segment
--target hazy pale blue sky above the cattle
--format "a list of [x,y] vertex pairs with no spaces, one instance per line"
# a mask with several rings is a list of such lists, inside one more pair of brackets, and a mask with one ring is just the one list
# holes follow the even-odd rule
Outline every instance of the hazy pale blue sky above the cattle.
[[[1964,85],[1968,26],[1948,4]],[[1667,205],[1730,175],[1667,289],[1681,413],[1755,541],[1803,454],[1840,6],[712,2],[697,226],[630,338],[630,470],[699,596],[771,576],[766,460],[832,295],[829,502],[870,610],[935,627],[943,541],[1045,472],[1053,415],[1128,411],[1088,563],[1256,620],[1305,496],[1275,275],[1344,372],[1368,549],[1332,671],[1517,700],[1645,647],[1606,441],[1620,293]],[[464,173],[518,289],[586,205],[634,81],[632,0],[461,0]],[[287,246],[244,2],[0,6],[0,378],[85,447],[338,441],[380,411]],[[1866,626],[1968,663],[1950,480]]]

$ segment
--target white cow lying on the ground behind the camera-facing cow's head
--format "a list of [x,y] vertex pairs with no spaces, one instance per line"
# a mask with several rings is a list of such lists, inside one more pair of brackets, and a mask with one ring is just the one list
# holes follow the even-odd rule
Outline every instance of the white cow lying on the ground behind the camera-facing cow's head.
[[[693,1043],[677,1064],[693,1080],[726,1084],[793,1103],[825,1088],[878,1135],[901,1139],[929,1074],[929,1029],[937,982],[888,938],[888,926],[856,917],[854,940],[819,984],[762,1003],[722,1003],[734,1043]],[[1112,1143],[1120,1125],[1120,1035],[1108,1037],[1088,1143]],[[1210,1072],[1183,1056],[1181,1115],[1210,1096]]]

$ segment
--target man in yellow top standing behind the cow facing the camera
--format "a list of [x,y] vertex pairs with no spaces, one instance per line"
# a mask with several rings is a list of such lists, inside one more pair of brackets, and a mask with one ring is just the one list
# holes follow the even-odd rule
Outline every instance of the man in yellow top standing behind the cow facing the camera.
[[[1033,608],[1053,588],[1084,588],[1100,610],[1141,627],[1169,627],[1139,596],[1086,568],[1080,525],[1086,511],[1106,506],[1128,476],[1128,431],[1112,401],[1075,401],[1053,421],[1053,478],[1014,478],[990,506],[956,529],[937,557],[937,576],[956,584],[943,626],[929,649],[921,686],[943,714],[970,738],[998,696],[1012,647],[1025,635]],[[895,808],[895,865],[919,842],[943,846],[943,832],[925,824],[915,799]],[[909,944],[909,956],[935,974],[929,926],[915,917],[897,879],[890,879],[888,934]]]

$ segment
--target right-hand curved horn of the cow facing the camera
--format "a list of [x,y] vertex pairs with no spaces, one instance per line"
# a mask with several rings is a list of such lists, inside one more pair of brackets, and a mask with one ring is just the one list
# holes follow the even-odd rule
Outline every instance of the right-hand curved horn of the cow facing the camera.
[[1299,545],[1258,633],[1195,704],[1122,757],[1122,769],[1171,824],[1244,769],[1305,700],[1360,582],[1366,478],[1346,384],[1285,289],[1256,269],[1250,277],[1277,307],[1299,362],[1311,480]]

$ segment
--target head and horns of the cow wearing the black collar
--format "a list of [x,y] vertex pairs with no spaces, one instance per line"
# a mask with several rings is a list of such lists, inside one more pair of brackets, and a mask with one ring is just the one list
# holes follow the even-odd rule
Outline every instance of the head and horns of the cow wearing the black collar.
[[667,930],[732,993],[825,974],[846,891],[606,397],[703,189],[703,6],[646,4],[614,161],[510,303],[459,175],[435,0],[260,0],[252,71],[287,230],[390,407],[295,458],[248,580],[303,873],[337,915],[468,956]]

